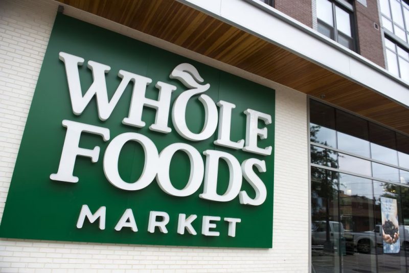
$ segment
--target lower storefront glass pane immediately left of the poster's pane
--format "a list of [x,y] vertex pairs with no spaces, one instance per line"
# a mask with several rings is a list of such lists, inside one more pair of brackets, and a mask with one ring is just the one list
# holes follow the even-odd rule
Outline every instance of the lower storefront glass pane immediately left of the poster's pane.
[[[339,217],[347,251],[344,272],[376,271],[372,180],[339,173]],[[354,252],[357,252],[355,254]],[[359,271],[365,270],[365,271]]]

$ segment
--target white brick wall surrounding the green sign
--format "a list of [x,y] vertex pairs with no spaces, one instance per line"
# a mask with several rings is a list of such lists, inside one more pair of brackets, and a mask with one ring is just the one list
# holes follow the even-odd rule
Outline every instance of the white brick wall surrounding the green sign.
[[[46,0],[0,0],[0,217],[57,6]],[[95,16],[92,20],[100,26],[107,24],[103,20],[99,23]],[[126,33],[130,31],[127,28],[111,28],[121,29],[130,36],[135,35]],[[0,271],[308,271],[306,96],[285,87],[276,86],[276,90],[272,249],[0,239]]]

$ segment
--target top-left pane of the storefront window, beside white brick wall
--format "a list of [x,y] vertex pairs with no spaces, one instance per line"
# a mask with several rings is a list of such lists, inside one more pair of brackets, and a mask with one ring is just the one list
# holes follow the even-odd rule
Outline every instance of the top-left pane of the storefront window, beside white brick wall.
[[336,148],[335,109],[317,101],[310,103],[311,142]]

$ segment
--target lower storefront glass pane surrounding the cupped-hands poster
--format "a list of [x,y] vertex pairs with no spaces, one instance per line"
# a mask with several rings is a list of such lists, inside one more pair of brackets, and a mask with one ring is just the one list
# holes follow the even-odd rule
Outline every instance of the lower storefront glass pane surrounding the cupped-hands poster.
[[[377,259],[378,259],[378,272],[391,273],[391,272],[406,272],[406,261],[405,253],[401,247],[398,254],[384,254],[383,253],[383,234],[382,234],[382,215],[381,215],[381,197],[387,197],[397,200],[398,209],[398,225],[400,233],[404,233],[402,230],[402,209],[400,204],[400,187],[389,183],[382,183],[379,181],[374,181],[374,216],[376,230],[376,245],[377,245]],[[385,217],[385,216],[384,216]],[[400,237],[400,235],[399,235]],[[402,240],[403,242],[404,240]],[[401,243],[402,243],[401,242]]]

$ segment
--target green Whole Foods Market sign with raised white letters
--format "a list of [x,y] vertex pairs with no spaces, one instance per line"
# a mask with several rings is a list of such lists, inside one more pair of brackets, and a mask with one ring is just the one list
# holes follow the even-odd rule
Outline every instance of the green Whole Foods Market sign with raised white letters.
[[58,15],[0,235],[271,247],[274,98]]

